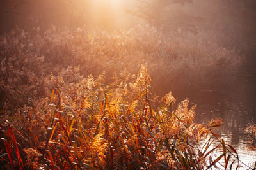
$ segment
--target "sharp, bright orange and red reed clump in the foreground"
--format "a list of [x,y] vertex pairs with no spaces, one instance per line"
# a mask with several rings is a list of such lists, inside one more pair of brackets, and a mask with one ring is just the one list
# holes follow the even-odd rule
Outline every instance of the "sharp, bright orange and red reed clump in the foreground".
[[[152,93],[147,67],[127,70],[107,83],[104,74],[52,76],[51,97],[24,106],[1,124],[1,166],[25,169],[203,169],[216,166],[209,125],[195,124],[195,108],[172,93]],[[217,137],[218,138],[218,137]],[[223,145],[223,143],[222,143]],[[221,146],[221,145],[220,145]],[[225,146],[225,145],[223,145]],[[224,150],[225,147],[223,147]],[[235,151],[236,152],[236,151]],[[238,156],[237,156],[238,157]],[[227,160],[228,162],[228,160]]]

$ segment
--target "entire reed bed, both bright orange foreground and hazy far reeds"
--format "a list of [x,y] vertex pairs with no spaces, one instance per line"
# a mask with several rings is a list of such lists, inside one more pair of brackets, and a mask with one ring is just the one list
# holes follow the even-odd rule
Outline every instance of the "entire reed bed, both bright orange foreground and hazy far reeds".
[[[223,120],[195,124],[196,106],[188,99],[177,103],[171,92],[160,98],[153,88],[161,94],[223,85],[243,60],[233,51],[147,26],[52,27],[1,35],[0,59],[5,169],[228,169],[239,163],[236,150],[214,132]],[[220,145],[211,148],[216,139]],[[216,149],[223,153],[215,159]]]

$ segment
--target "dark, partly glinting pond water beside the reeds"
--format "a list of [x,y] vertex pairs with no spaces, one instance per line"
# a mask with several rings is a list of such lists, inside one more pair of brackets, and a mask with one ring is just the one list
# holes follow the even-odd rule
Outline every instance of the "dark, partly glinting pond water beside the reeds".
[[[252,149],[248,143],[248,134],[244,131],[247,126],[256,124],[255,77],[250,74],[237,76],[230,89],[204,89],[190,100],[192,104],[197,104],[196,123],[207,124],[211,119],[223,118],[224,124],[218,130],[221,139],[233,146],[239,154],[239,160],[248,166],[256,161],[256,148]],[[216,141],[212,146],[219,144]],[[216,151],[214,154],[221,155],[221,152]],[[248,167],[243,165],[240,169]]]

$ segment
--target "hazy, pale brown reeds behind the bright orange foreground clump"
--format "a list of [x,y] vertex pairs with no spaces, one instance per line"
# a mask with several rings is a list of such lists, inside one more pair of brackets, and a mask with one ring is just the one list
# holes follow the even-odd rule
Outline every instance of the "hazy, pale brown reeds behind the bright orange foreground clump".
[[172,90],[179,96],[212,85],[222,89],[243,61],[234,51],[198,41],[193,34],[166,36],[147,26],[118,32],[15,30],[0,40],[1,110],[10,111],[47,96],[54,88],[48,83],[51,76],[63,69],[76,67],[84,77],[105,72],[109,81],[113,72],[126,68],[136,74],[145,63],[157,94]]

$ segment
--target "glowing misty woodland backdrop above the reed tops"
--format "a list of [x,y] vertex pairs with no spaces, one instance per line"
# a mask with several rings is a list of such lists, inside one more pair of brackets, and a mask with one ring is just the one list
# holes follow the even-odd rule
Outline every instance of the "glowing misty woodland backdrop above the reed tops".
[[[17,28],[24,29],[30,32],[29,34],[35,30],[43,34],[49,29],[61,32],[67,29],[76,30],[80,27],[91,31],[122,31],[136,28],[138,25],[148,25],[157,31],[157,34],[162,35],[163,38],[160,41],[167,43],[172,41],[172,36],[175,35],[175,38],[180,39],[179,41],[186,43],[193,36],[194,40],[187,42],[189,46],[196,46],[198,43],[205,46],[217,45],[227,49],[228,52],[233,52],[234,55],[241,56],[240,59],[244,57],[243,61],[239,61],[241,62],[239,70],[237,68],[232,70],[231,67],[228,72],[231,73],[236,69],[238,71],[236,74],[252,76],[253,82],[255,81],[256,2],[254,0],[3,0],[0,3],[1,34]],[[202,46],[202,48],[205,47]],[[197,55],[193,54],[195,48],[191,49],[186,55]],[[177,52],[171,50],[172,56],[173,53],[179,55],[179,50]],[[197,46],[196,50],[200,50],[200,47]],[[150,55],[150,50],[145,52]],[[211,52],[208,50],[208,53]],[[219,65],[224,67],[225,60],[225,57],[218,60]],[[177,76],[178,74],[184,73],[177,73]],[[230,83],[228,76],[230,75],[227,74],[227,80],[222,84]],[[196,81],[196,78],[191,79]],[[160,94],[176,90],[177,95],[183,92],[182,97],[189,96],[184,92],[185,87],[168,89],[164,87],[164,83],[167,86],[170,81],[161,83],[160,89],[165,90],[159,92]],[[223,87],[227,88],[225,85]],[[212,87],[206,89],[212,89]],[[213,89],[216,88],[213,87]]]

